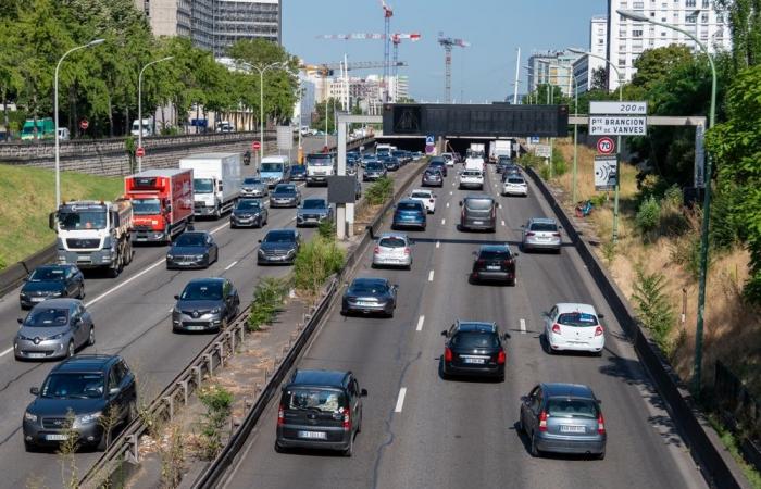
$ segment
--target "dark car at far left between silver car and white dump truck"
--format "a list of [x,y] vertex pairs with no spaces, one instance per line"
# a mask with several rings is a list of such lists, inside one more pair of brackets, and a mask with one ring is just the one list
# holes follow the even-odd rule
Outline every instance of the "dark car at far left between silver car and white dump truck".
[[35,304],[54,297],[85,298],[85,276],[76,265],[50,264],[35,268],[18,292],[21,309],[32,309]]

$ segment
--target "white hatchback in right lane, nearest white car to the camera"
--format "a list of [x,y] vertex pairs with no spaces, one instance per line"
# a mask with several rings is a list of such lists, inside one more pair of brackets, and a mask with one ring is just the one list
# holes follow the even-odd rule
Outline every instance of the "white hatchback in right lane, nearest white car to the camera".
[[547,353],[567,350],[602,355],[606,347],[606,330],[600,324],[602,317],[589,304],[554,304],[545,314]]

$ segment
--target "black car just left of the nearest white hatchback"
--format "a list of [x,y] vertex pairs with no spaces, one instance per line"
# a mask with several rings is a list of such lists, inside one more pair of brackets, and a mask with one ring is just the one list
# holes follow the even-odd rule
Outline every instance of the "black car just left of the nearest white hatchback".
[[447,338],[440,363],[444,379],[471,375],[504,380],[503,341],[510,334],[501,334],[496,323],[458,319],[441,336]]

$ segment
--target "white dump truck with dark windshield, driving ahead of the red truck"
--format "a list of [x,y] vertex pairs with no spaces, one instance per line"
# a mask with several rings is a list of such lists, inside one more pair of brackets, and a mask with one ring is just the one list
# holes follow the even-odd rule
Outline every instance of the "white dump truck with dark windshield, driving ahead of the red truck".
[[111,277],[117,277],[133,260],[133,204],[129,200],[64,201],[50,213],[48,224],[58,237],[59,263],[71,263],[83,269],[104,268]]

